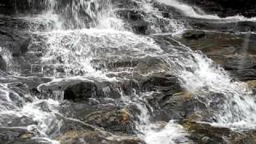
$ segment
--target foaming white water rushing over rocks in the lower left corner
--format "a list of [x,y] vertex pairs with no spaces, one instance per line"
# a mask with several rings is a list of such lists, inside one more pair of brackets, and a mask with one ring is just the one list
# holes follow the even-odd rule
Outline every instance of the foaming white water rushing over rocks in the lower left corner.
[[[31,130],[38,133],[38,138],[42,140],[49,139],[50,135],[59,134],[58,130],[62,126],[62,122],[55,116],[55,114],[58,114],[56,108],[59,102],[53,99],[39,100],[30,94],[21,97],[2,84],[0,85],[0,94],[1,127],[10,129],[19,127],[24,130]],[[30,99],[30,102],[26,102],[28,99]],[[32,123],[25,126],[17,126],[17,123],[14,123],[21,124],[23,121],[31,121]],[[55,142],[53,140],[50,141]]]

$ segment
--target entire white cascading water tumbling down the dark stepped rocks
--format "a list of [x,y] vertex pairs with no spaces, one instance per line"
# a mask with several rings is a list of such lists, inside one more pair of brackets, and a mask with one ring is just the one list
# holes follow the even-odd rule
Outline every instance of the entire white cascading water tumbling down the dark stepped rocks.
[[[32,6],[37,4],[32,0],[29,3]],[[62,114],[60,110],[66,102],[66,83],[109,82],[110,86],[103,89],[106,96],[103,98],[104,102],[114,101],[118,108],[135,106],[132,114],[135,119],[136,136],[148,144],[192,143],[188,138],[190,134],[176,122],[176,119],[169,119],[170,122],[166,123],[152,120],[154,108],[148,99],[161,92],[142,90],[136,79],[148,78],[166,71],[166,75],[176,76],[182,88],[193,94],[198,102],[203,103],[206,110],[198,113],[212,114],[211,124],[240,129],[255,127],[254,93],[246,84],[234,81],[225,70],[204,54],[190,50],[174,38],[172,41],[175,46],[169,43],[167,47],[162,48],[154,40],[154,35],[157,34],[134,34],[131,32],[133,28],[129,25],[127,27],[126,22],[116,16],[111,3],[110,0],[43,2],[45,6],[42,7],[45,10],[37,15],[37,18],[38,21],[41,17],[47,20],[44,23],[46,29],[39,30],[37,22],[30,23],[30,31],[33,32],[26,54],[39,55],[39,58],[34,58],[30,62],[31,70],[28,77],[40,76],[46,78],[46,82],[40,82],[33,94],[26,85],[4,83],[2,81],[5,79],[1,79],[1,129],[26,131],[33,134],[32,139],[35,142],[58,143],[56,139],[62,136],[62,127],[67,125],[66,119],[87,126],[81,119],[68,118],[69,115]],[[186,29],[178,20],[163,18],[162,12],[154,8],[150,1],[138,3],[143,5],[140,10],[152,14],[146,17],[151,24],[149,29],[152,29],[152,33],[162,32],[162,26],[156,24],[158,19],[168,23],[165,27],[167,32],[179,34]],[[172,6],[182,10],[188,7],[176,1]],[[198,17],[193,14],[194,11],[192,16]],[[205,17],[207,15],[200,16]],[[27,16],[24,18],[31,21]],[[22,75],[22,71],[12,61],[13,56],[8,50],[0,47],[0,55],[0,58],[7,62],[8,73],[18,74],[17,77],[9,75],[10,79],[27,77]],[[156,66],[147,61],[155,62]],[[138,86],[129,87],[130,91],[127,92],[128,88],[122,88],[119,84],[126,81],[133,81],[134,85]],[[58,86],[60,84],[63,86]],[[22,91],[15,90],[16,86],[22,86]],[[111,89],[115,89],[121,97],[111,98]],[[99,102],[97,96],[95,97],[90,100]]]

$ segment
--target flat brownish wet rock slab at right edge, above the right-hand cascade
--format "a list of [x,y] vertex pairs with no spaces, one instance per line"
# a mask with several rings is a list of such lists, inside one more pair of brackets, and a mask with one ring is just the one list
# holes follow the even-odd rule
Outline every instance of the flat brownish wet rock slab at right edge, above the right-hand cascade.
[[[198,33],[205,36],[195,37]],[[186,35],[192,35],[188,38]],[[254,34],[230,34],[210,31],[186,31],[182,42],[193,50],[202,50],[214,62],[242,81],[255,78]]]

